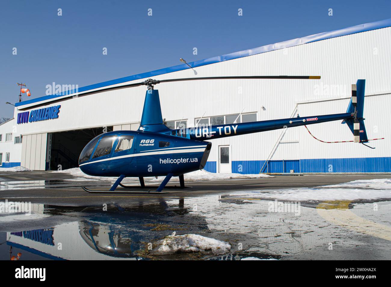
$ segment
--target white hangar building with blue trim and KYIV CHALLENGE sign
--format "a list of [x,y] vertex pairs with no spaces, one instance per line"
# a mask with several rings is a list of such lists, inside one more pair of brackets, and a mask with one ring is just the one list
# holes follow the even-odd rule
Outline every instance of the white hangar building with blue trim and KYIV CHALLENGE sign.
[[[368,148],[322,143],[305,127],[212,140],[205,169],[234,173],[391,172],[391,19],[324,32],[79,88],[98,91],[148,78],[320,75],[320,80],[204,80],[159,84],[170,128],[346,112],[351,85],[366,80],[364,117]],[[34,170],[77,166],[83,147],[110,130],[139,127],[145,86],[75,96],[54,94],[16,103],[14,118],[0,125],[2,167]],[[45,116],[36,115],[44,110]],[[26,113],[30,115],[26,119]],[[27,116],[28,116],[27,115]],[[39,114],[38,114],[39,115]],[[30,121],[30,119],[32,119]],[[35,120],[34,120],[35,119]],[[201,120],[200,120],[201,119]],[[308,126],[323,141],[350,141],[340,121]]]

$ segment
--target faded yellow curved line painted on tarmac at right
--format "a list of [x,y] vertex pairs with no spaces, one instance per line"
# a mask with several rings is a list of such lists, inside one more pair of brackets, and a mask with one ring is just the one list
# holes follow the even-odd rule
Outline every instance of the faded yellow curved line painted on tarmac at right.
[[[337,203],[337,206],[331,207],[327,203]],[[316,210],[321,217],[335,225],[391,241],[391,227],[357,216],[348,209],[349,203],[350,201],[326,201],[319,203]]]

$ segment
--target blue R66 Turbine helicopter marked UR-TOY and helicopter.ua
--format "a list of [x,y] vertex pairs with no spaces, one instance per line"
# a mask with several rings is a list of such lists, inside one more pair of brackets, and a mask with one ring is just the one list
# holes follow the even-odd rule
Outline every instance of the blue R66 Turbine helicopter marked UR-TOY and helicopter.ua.
[[[115,176],[116,182],[108,191],[90,190],[90,193],[164,193],[162,190],[172,176],[179,176],[180,186],[185,188],[183,174],[203,169],[212,143],[208,140],[235,135],[264,132],[287,127],[298,127],[343,120],[354,135],[354,142],[367,143],[363,118],[365,80],[352,85],[352,98],[348,109],[342,114],[328,114],[287,119],[273,119],[247,123],[201,126],[170,129],[163,124],[158,90],[154,85],[165,82],[217,79],[320,79],[320,76],[233,76],[199,77],[168,80],[148,79],[135,84],[109,87],[95,92],[111,91],[128,87],[147,86],[140,128],[137,131],[121,130],[98,135],[88,143],[80,154],[81,171],[92,176]],[[144,177],[165,176],[156,191],[146,187]],[[142,190],[129,190],[121,184],[125,177],[138,177]],[[126,188],[116,190],[118,185]],[[167,186],[167,188],[174,188]],[[149,189],[149,190],[145,190]]]

